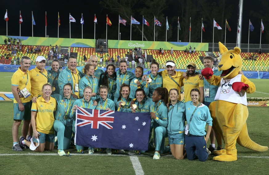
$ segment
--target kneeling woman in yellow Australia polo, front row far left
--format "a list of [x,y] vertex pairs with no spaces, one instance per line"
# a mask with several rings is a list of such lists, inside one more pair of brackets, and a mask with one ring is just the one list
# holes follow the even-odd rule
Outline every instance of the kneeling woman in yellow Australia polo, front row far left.
[[[33,142],[37,146],[35,151],[53,150],[54,147],[54,112],[56,110],[56,100],[51,97],[51,85],[44,84],[42,87],[43,95],[38,97],[36,103],[32,104],[31,124],[33,127]],[[39,141],[38,141],[39,139]],[[20,143],[30,147],[31,142],[22,136]],[[38,146],[39,145],[39,146]]]

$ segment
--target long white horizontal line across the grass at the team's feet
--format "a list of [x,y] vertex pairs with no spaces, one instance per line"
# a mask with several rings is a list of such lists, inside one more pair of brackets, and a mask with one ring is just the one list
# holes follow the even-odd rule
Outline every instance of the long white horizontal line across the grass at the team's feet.
[[[152,157],[152,155],[149,154],[142,154],[142,155],[136,155],[134,153],[128,153],[127,154],[101,154],[101,153],[94,153],[94,154],[76,154],[72,153],[71,156],[130,156],[130,157]],[[57,153],[15,153],[15,154],[0,154],[0,156],[59,156]],[[171,154],[162,155],[161,157],[172,157]],[[238,158],[263,158],[263,159],[269,159],[269,156],[237,156]]]

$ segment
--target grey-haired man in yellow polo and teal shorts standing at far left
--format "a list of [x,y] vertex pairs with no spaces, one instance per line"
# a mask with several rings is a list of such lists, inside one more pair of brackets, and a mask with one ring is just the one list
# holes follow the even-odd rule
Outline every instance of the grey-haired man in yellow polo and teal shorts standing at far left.
[[31,81],[28,71],[31,65],[30,58],[23,56],[20,65],[11,78],[11,88],[14,96],[14,123],[12,126],[12,149],[14,151],[23,151],[18,144],[18,129],[23,120],[22,136],[26,137],[31,120]]

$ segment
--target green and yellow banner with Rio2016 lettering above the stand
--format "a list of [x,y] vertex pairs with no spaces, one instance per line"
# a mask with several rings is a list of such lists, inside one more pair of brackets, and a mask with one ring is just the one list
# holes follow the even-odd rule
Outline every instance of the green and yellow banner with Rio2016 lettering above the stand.
[[126,41],[126,40],[108,40],[108,48],[116,49],[134,49],[135,47],[141,47],[141,49],[154,49],[159,50],[185,50],[187,48],[189,52],[190,46],[192,50],[195,47],[196,51],[208,51],[208,43],[198,42],[161,42],[161,41]]

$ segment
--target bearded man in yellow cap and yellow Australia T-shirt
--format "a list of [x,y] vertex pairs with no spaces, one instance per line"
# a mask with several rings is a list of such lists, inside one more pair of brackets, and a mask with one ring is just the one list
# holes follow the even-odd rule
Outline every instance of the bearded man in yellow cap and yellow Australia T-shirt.
[[191,89],[199,89],[200,102],[204,102],[204,82],[200,80],[199,76],[195,74],[196,65],[194,62],[189,62],[187,65],[187,78],[182,79],[181,85],[184,86],[184,101],[191,101]]

